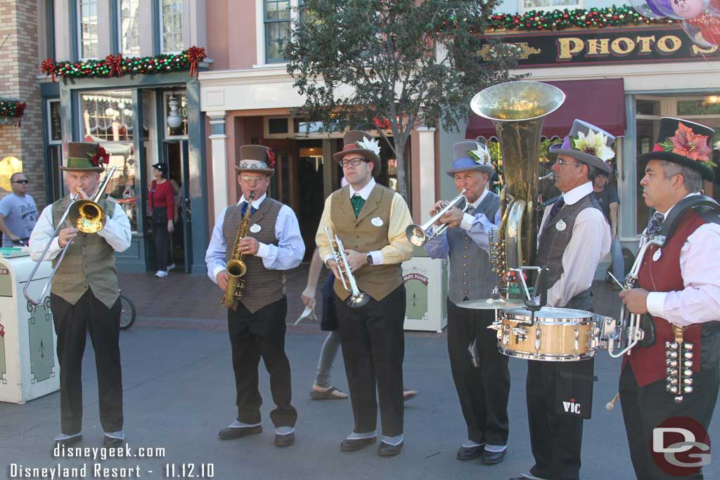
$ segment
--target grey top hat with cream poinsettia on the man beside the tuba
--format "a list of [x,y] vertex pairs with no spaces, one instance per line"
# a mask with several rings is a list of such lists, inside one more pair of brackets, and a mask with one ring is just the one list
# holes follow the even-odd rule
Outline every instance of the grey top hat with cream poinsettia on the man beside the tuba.
[[608,160],[615,156],[613,142],[615,137],[605,130],[575,119],[567,137],[564,137],[562,143],[552,145],[548,152],[554,155],[567,155],[600,171],[612,173],[613,167]]

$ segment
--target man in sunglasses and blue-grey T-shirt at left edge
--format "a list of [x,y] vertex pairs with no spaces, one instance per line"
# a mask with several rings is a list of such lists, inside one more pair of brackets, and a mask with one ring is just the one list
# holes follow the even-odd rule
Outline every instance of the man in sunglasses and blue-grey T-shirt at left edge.
[[[21,238],[30,237],[37,222],[35,199],[27,193],[27,178],[22,172],[10,177],[12,193],[0,200],[0,230],[2,246],[17,246]],[[15,244],[14,244],[15,242]]]

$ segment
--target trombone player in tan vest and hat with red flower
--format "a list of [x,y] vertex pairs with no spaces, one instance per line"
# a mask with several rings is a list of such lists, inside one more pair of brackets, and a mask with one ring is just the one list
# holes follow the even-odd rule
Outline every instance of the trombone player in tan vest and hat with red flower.
[[[45,207],[30,235],[31,258],[40,261],[47,248],[42,260],[53,261],[57,269],[50,287],[50,309],[60,362],[61,430],[55,444],[61,445],[73,445],[83,437],[81,365],[87,332],[95,350],[103,445],[119,446],[125,440],[115,252],[130,247],[130,222],[120,205],[107,198],[97,200],[106,220],[96,234],[81,233],[69,223],[60,222],[72,196],[77,195],[78,201],[97,196],[104,163],[109,163],[109,154],[98,144],[68,142],[68,160],[60,168],[65,171],[70,195]],[[65,256],[58,263],[58,255],[65,248]]]

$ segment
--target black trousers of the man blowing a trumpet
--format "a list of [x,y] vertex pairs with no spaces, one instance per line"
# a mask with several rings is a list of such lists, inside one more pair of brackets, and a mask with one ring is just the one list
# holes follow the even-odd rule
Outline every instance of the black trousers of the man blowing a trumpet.
[[[467,425],[467,438],[477,443],[508,443],[508,356],[498,351],[498,336],[487,328],[494,310],[448,306],[448,353],[450,368]],[[468,346],[477,338],[480,368],[472,365]]]

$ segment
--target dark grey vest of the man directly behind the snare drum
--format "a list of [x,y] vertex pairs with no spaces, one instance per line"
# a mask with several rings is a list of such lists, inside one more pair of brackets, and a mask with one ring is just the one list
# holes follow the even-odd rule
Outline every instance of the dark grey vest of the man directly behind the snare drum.
[[[552,206],[548,205],[546,208],[552,208]],[[564,205],[538,239],[537,263],[539,266],[544,266],[549,269],[547,278],[548,288],[552,287],[555,282],[560,279],[564,271],[562,268],[562,255],[565,253],[567,244],[570,243],[572,228],[575,227],[577,215],[586,208],[596,208],[602,212],[600,204],[595,200],[595,197],[592,194],[585,195],[580,201],[575,202],[575,204]],[[564,230],[557,230],[555,227],[560,220],[565,223]],[[587,290],[582,291],[570,299],[567,305],[558,305],[558,307],[589,310],[592,307],[590,292]]]

